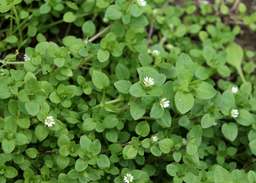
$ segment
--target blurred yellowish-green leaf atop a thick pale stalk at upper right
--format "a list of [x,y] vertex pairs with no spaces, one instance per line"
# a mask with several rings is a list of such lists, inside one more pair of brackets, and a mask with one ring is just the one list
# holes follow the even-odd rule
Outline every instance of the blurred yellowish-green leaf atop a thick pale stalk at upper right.
[[227,47],[227,62],[235,68],[240,68],[244,57],[243,49],[240,45],[231,42]]

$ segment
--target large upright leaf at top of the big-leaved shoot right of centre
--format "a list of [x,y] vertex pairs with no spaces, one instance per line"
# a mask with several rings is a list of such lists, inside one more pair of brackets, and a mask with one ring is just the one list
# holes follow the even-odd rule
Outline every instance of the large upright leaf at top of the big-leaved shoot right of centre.
[[189,73],[191,76],[194,76],[194,73],[195,73],[194,63],[191,60],[191,58],[185,53],[182,53],[179,56],[178,61],[176,62],[175,68],[177,73],[181,71],[185,71]]

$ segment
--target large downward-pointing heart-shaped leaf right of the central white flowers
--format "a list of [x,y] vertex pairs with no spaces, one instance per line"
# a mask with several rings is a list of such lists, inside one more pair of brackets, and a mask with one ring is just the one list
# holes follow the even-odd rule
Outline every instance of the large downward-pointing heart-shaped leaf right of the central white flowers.
[[183,114],[188,112],[194,105],[194,97],[191,93],[177,91],[175,94],[175,106]]

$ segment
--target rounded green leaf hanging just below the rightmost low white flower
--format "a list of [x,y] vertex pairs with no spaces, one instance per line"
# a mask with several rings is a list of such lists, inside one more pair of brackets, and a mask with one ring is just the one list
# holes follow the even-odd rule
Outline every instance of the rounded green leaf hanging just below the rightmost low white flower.
[[238,129],[235,123],[224,123],[221,127],[223,135],[230,141],[234,141],[238,134]]

